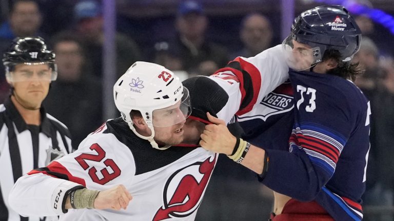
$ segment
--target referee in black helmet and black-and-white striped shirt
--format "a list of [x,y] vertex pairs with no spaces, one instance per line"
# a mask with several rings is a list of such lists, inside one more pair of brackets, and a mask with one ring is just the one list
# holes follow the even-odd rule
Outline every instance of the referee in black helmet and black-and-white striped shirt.
[[10,209],[8,195],[20,176],[71,150],[67,127],[41,106],[57,77],[55,54],[41,37],[15,38],[3,63],[11,95],[0,104],[0,221],[39,221]]

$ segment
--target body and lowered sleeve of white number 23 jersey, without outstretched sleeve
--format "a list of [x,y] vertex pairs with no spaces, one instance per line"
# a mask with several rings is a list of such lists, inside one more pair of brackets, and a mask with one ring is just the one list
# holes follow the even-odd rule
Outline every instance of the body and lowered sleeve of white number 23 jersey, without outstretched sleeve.
[[[194,220],[218,154],[201,147],[157,150],[127,127],[121,118],[108,121],[77,151],[25,175],[12,194],[27,197],[11,196],[12,207],[22,215],[57,214],[61,220]],[[120,184],[133,196],[126,210],[71,209],[64,214],[70,190],[102,191]]]

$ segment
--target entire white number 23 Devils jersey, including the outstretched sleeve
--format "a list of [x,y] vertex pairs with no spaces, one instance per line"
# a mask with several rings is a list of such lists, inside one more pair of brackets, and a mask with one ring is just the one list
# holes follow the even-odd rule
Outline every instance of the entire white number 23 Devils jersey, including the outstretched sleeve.
[[[250,112],[288,78],[282,54],[276,46],[236,58],[213,76],[185,80],[192,117],[205,122],[210,112],[229,122],[236,113]],[[154,149],[121,118],[110,120],[74,153],[20,178],[10,205],[22,215],[58,214],[63,220],[194,220],[216,159],[217,154],[201,147]],[[74,189],[106,190],[119,184],[133,196],[127,210],[64,209]]]

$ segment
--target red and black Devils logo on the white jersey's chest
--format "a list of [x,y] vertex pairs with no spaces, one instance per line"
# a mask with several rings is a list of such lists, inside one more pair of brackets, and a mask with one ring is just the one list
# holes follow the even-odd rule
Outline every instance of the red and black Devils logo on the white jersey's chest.
[[163,192],[163,207],[157,210],[153,221],[171,217],[185,217],[199,208],[216,162],[216,154],[209,161],[197,162],[174,172]]

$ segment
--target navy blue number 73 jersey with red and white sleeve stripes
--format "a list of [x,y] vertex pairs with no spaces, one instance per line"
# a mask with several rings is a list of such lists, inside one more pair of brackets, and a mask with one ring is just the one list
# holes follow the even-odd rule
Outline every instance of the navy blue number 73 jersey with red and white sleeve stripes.
[[[336,220],[361,220],[369,102],[341,77],[295,71],[289,76],[291,86],[281,85],[260,102],[264,115],[239,117],[246,138],[269,157],[261,182],[296,200],[316,201]],[[269,99],[273,95],[281,98]],[[274,105],[286,97],[292,97],[290,106]]]

